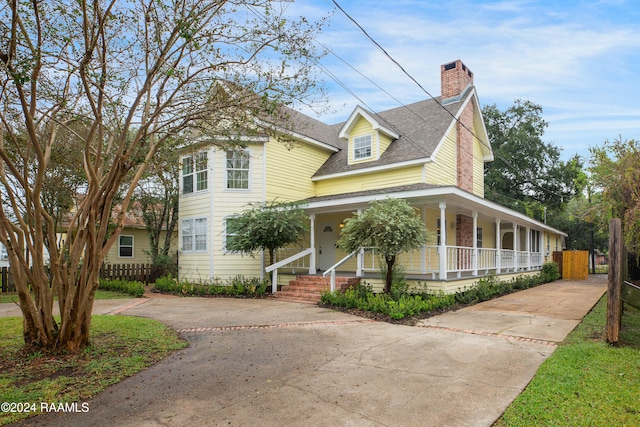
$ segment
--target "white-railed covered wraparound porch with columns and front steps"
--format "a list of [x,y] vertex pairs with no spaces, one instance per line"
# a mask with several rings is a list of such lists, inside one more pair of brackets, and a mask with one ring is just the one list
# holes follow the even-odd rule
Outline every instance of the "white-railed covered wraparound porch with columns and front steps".
[[421,249],[397,261],[405,277],[428,288],[455,291],[481,277],[537,272],[552,251],[562,250],[564,233],[464,192],[456,187],[362,192],[309,202],[310,233],[306,248],[285,248],[266,271],[278,274],[350,275],[375,281],[384,260],[376,248],[351,254],[336,247],[345,218],[360,214],[371,200],[398,197],[411,203],[430,231]]

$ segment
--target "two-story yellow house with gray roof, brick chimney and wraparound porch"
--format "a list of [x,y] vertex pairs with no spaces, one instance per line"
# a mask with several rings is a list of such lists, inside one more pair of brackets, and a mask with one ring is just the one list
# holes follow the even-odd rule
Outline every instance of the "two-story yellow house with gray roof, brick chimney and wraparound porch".
[[[357,107],[348,120],[327,125],[291,111],[295,131],[289,149],[273,137],[252,140],[244,150],[194,145],[182,156],[179,274],[206,280],[237,274],[264,276],[265,256],[225,251],[233,218],[250,202],[306,202],[310,230],[304,254],[279,269],[317,274],[345,255],[336,248],[344,219],[372,200],[411,203],[434,235],[400,263],[409,279],[445,292],[470,286],[490,273],[535,272],[566,234],[484,199],[484,163],[493,152],[473,85],[461,61],[441,67],[442,95],[373,113]],[[306,250],[306,251],[305,251]],[[294,268],[295,267],[295,268]],[[374,282],[379,261],[367,249],[337,267]],[[270,268],[269,268],[270,270]]]

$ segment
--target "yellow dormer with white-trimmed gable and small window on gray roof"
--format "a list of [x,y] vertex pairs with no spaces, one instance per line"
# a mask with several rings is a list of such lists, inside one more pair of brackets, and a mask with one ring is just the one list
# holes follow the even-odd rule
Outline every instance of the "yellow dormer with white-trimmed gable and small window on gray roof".
[[347,141],[348,164],[376,161],[400,135],[364,110],[356,107],[338,136]]

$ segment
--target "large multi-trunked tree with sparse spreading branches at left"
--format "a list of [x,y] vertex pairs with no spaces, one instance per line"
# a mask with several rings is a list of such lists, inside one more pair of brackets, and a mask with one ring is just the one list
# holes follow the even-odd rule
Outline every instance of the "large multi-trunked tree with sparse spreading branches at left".
[[[322,100],[323,23],[287,16],[288,3],[2,1],[0,243],[27,350],[89,344],[100,268],[167,140],[225,148],[292,126],[282,105]],[[78,154],[83,182],[56,225],[44,195],[60,145]]]

